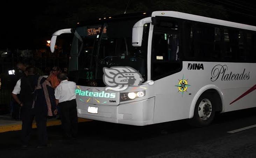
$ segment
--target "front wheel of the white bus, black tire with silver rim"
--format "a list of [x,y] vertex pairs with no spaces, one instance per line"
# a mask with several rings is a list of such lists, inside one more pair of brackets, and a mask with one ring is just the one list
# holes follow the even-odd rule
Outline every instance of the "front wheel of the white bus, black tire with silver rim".
[[202,94],[195,104],[194,116],[189,124],[195,127],[204,127],[212,123],[215,116],[215,101],[210,93]]

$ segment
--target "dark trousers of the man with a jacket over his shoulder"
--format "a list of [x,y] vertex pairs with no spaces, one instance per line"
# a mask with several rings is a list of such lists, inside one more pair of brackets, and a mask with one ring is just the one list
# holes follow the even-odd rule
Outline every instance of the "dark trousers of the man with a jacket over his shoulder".
[[34,109],[22,108],[22,129],[21,129],[21,143],[22,145],[28,145],[31,131],[32,123],[35,117],[36,127],[37,127],[37,140],[38,145],[43,146],[47,145],[48,136],[47,136],[47,117],[43,114],[35,114]]

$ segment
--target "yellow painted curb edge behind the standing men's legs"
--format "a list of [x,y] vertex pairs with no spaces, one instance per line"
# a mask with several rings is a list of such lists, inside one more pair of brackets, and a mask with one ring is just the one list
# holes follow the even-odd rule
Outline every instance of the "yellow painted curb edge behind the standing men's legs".
[[[85,119],[85,118],[78,118],[78,122],[88,122],[88,121],[92,121],[92,120],[88,120],[88,119]],[[54,125],[61,125],[61,120],[47,122],[47,127],[48,126],[54,126]],[[0,126],[0,133],[8,132],[8,131],[21,130],[21,127],[22,127],[21,124]],[[36,123],[32,124],[32,128],[36,128]]]

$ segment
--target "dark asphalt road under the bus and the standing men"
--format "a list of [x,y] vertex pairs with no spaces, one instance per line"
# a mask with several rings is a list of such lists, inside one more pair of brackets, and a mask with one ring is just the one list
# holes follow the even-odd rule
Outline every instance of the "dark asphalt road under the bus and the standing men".
[[212,125],[194,128],[185,120],[144,127],[91,121],[79,123],[76,141],[61,139],[60,126],[48,127],[51,148],[21,149],[20,131],[0,133],[0,157],[256,157],[256,109],[219,114]]

